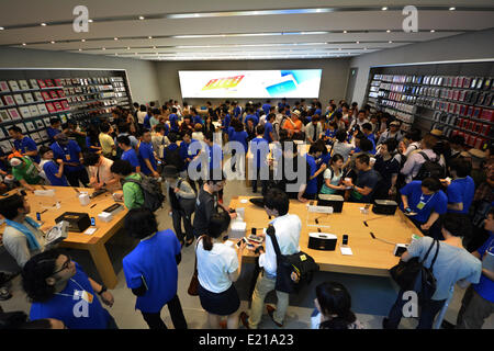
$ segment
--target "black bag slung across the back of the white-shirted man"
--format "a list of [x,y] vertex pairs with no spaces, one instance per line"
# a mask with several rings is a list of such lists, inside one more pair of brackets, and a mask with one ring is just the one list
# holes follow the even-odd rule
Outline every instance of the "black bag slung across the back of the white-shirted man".
[[[270,225],[266,234],[271,238],[272,247],[277,253],[277,282],[274,290],[290,294],[297,291],[302,284],[311,283],[314,272],[319,271],[319,265],[314,259],[302,251],[293,254],[281,254],[280,246],[274,235],[274,227]],[[296,281],[293,281],[292,273],[296,275]]]

